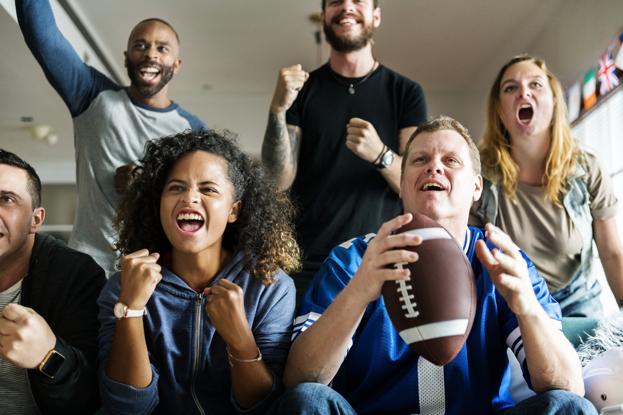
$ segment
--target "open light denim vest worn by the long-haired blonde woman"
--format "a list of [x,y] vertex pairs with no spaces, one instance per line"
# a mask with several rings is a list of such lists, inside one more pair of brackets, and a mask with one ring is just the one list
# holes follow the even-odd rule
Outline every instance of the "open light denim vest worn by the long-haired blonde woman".
[[[587,188],[587,172],[581,163],[576,165],[576,171],[568,183],[566,187],[568,193],[564,195],[563,205],[582,236],[582,273],[586,277],[586,286],[590,289],[597,276],[592,272],[592,215],[589,207],[591,200]],[[482,196],[480,196],[482,203],[478,209],[478,216],[484,223],[495,224],[498,216],[498,197],[497,183],[492,183],[483,174]]]

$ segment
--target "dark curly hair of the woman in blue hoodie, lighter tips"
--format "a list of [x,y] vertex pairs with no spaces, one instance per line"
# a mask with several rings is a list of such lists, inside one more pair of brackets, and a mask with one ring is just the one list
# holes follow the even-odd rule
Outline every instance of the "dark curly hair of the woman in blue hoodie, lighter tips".
[[290,225],[292,203],[278,192],[264,166],[240,150],[237,135],[227,130],[186,130],[146,143],[113,219],[119,256],[145,248],[161,254],[171,249],[160,221],[161,193],[173,164],[194,151],[227,161],[232,196],[242,207],[237,221],[227,224],[223,243],[244,252],[245,269],[252,268],[255,257],[254,274],[264,285],[276,280],[279,267],[286,274],[299,271],[300,249]]

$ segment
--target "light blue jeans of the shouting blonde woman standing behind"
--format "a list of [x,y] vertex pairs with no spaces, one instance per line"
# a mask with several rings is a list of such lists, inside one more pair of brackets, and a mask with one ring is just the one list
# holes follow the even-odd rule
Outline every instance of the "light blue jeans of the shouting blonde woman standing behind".
[[601,284],[595,281],[591,289],[586,288],[586,278],[582,271],[564,289],[551,293],[554,300],[560,304],[563,317],[600,318],[604,309],[599,299]]

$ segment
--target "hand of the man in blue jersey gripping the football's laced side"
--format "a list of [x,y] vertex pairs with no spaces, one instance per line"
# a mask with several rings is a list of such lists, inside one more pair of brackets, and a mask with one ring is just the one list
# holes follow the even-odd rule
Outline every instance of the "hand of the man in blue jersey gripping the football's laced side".
[[411,222],[412,219],[411,213],[394,217],[391,221],[385,222],[376,237],[369,242],[359,269],[348,283],[350,287],[353,287],[355,295],[358,295],[364,303],[367,304],[381,297],[384,282],[404,280],[411,275],[408,269],[389,269],[386,265],[397,262],[416,262],[419,258],[417,252],[396,248],[419,245],[422,243],[421,236],[407,233],[391,234],[402,225]]

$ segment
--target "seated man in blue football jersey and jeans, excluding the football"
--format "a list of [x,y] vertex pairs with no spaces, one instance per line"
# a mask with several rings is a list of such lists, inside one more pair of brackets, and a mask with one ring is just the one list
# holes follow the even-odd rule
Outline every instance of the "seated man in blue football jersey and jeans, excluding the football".
[[[406,214],[385,222],[376,236],[331,251],[297,312],[283,372],[290,389],[270,415],[596,414],[581,398],[578,355],[562,333],[560,307],[545,280],[498,227],[467,226],[470,204],[482,191],[479,157],[467,130],[452,118],[417,127],[402,161]],[[422,237],[393,232],[416,213],[459,241],[475,277],[472,329],[443,367],[402,340],[381,296],[384,282],[410,276],[409,269],[388,265],[418,260],[416,252],[400,248],[419,245]],[[516,406],[508,391],[507,347],[537,393]]]

